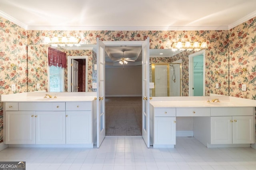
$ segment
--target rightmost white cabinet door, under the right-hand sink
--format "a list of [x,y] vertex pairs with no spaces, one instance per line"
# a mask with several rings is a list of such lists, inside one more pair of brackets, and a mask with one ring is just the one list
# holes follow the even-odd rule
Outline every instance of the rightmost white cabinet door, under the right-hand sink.
[[233,116],[233,143],[254,143],[254,117]]

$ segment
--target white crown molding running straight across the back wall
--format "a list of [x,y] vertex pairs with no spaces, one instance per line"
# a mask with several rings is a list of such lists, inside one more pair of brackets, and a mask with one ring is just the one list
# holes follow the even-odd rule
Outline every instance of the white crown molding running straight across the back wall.
[[228,26],[182,26],[182,27],[73,27],[73,26],[28,26],[28,30],[76,30],[76,31],[198,31],[228,30]]

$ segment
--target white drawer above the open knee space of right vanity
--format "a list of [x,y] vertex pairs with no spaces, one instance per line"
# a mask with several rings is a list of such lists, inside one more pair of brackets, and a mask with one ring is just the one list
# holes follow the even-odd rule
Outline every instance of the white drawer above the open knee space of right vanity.
[[210,116],[210,108],[177,108],[176,116]]

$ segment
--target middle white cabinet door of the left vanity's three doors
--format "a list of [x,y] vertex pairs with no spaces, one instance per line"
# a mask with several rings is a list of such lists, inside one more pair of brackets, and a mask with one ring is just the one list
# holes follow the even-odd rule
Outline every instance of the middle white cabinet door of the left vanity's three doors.
[[36,144],[65,144],[65,111],[36,111]]

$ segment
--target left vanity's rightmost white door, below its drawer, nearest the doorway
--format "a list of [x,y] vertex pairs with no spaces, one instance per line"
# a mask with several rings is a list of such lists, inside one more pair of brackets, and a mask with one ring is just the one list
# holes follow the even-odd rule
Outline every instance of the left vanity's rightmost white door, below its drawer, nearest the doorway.
[[66,111],[66,144],[92,144],[92,111]]

